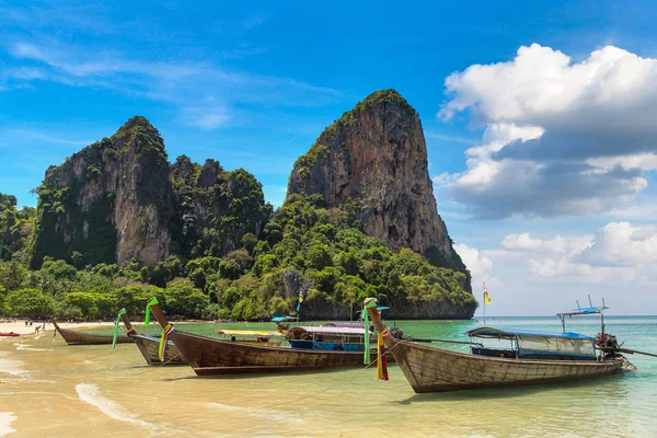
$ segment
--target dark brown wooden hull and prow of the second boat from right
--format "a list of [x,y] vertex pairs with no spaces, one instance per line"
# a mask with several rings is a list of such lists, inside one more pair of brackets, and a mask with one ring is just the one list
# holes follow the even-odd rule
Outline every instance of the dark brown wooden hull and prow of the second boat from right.
[[[153,304],[151,311],[165,328],[169,323],[162,309]],[[262,346],[199,336],[177,330],[169,337],[198,376],[364,367],[362,353]]]

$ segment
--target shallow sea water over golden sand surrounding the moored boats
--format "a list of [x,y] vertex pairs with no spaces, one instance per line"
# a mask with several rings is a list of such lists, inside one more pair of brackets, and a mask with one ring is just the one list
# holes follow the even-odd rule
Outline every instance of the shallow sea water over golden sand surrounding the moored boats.
[[[556,318],[487,323],[561,330]],[[606,323],[627,348],[657,353],[657,316],[607,316]],[[479,323],[396,324],[417,337],[464,341],[463,332]],[[178,330],[211,335],[218,326]],[[220,326],[273,328],[272,323]],[[599,319],[573,319],[567,328],[595,335]],[[49,334],[2,339],[0,435],[4,412],[14,418],[10,437],[655,437],[657,358],[629,358],[638,370],[624,376],[415,394],[395,366],[388,382],[377,380],[373,368],[197,378],[188,367],[146,366],[134,345],[68,347]]]

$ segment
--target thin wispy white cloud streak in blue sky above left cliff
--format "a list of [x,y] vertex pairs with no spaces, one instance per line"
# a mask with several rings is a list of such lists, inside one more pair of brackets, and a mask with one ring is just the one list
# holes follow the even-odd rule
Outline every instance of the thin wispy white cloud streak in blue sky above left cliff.
[[176,54],[171,54],[171,59],[153,61],[53,39],[15,42],[10,44],[9,53],[25,66],[4,71],[0,85],[24,87],[38,80],[112,89],[171,104],[180,112],[178,122],[201,129],[216,129],[239,119],[232,116],[237,113],[234,107],[242,103],[309,106],[333,102],[342,95],[293,79],[181,60]]

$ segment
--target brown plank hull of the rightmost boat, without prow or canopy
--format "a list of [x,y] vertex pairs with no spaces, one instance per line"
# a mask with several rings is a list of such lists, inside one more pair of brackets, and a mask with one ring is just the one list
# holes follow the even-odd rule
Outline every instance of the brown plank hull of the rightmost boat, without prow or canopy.
[[387,344],[417,393],[564,382],[624,371],[623,359],[505,359],[396,339],[387,339]]

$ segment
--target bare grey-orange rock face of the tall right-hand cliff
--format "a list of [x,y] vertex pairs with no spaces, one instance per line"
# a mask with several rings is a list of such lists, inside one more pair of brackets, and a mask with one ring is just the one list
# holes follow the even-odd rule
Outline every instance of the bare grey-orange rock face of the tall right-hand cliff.
[[367,234],[465,272],[436,208],[419,117],[394,90],[370,94],[320,135],[295,163],[296,193],[320,194],[328,207],[356,201]]

